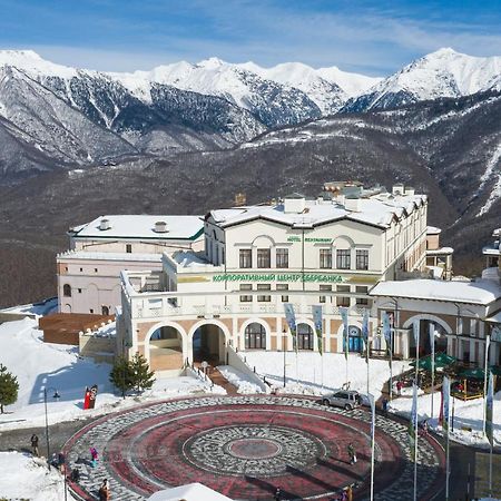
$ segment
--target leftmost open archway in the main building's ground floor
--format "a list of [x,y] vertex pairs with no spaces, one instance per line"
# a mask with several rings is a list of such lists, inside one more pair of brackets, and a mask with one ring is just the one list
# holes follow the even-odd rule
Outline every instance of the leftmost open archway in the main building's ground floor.
[[151,371],[183,369],[183,335],[177,328],[170,325],[158,327],[151,333],[147,348]]

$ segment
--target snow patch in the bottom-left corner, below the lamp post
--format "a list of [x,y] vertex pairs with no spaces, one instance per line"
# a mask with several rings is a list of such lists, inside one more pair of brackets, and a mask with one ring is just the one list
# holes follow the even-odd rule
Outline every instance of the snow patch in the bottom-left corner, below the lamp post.
[[[61,474],[47,463],[20,452],[0,452],[0,499],[60,501],[65,499]],[[68,491],[68,500],[75,498]]]

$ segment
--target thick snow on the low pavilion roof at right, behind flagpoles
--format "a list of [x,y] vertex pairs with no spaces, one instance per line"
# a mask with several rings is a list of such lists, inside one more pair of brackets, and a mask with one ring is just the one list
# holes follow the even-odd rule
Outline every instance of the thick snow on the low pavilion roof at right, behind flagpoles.
[[410,299],[489,304],[501,297],[501,287],[492,281],[390,281],[380,282],[369,294],[371,296],[406,297]]

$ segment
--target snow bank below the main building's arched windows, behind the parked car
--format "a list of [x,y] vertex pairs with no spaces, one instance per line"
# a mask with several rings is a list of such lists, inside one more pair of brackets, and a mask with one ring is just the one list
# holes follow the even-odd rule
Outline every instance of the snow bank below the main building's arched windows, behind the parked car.
[[[340,389],[346,381],[346,361],[341,353],[324,353],[321,356],[314,352],[292,352],[285,354],[284,383],[284,353],[283,352],[242,352],[250,366],[256,367],[259,375],[266,376],[278,393],[296,393],[322,395],[334,389]],[[350,354],[347,363],[347,380],[350,389],[366,393],[367,364],[365,358]],[[396,377],[409,369],[406,362],[393,362],[393,376]],[[381,396],[383,384],[390,379],[387,361],[370,360],[369,390],[377,400]],[[323,373],[323,375],[322,375]]]

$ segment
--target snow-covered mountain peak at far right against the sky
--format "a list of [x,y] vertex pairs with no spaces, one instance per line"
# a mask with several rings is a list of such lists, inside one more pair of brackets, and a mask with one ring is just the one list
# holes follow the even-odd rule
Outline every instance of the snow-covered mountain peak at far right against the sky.
[[364,94],[352,98],[344,111],[397,108],[443,97],[501,90],[501,57],[479,58],[440,49],[416,59]]

